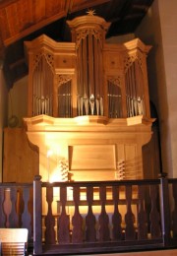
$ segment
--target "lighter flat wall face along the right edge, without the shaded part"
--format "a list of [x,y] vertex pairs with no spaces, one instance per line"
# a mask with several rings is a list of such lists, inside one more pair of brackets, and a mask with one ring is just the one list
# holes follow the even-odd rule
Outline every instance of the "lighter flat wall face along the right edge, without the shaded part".
[[167,85],[172,176],[177,177],[177,1],[158,0]]

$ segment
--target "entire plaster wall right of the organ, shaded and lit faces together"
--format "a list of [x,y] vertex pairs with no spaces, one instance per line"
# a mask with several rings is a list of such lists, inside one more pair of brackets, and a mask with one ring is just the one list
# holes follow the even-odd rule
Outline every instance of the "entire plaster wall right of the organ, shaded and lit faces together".
[[177,177],[177,1],[155,0],[137,30],[153,48],[148,58],[149,96],[159,115],[163,171]]

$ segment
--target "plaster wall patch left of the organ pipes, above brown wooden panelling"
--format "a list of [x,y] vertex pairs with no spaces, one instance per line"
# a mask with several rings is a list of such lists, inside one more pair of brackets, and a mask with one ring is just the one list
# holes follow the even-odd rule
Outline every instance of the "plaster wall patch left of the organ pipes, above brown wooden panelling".
[[18,127],[22,127],[23,118],[28,112],[28,76],[17,81],[9,91],[8,119],[15,115],[19,119]]

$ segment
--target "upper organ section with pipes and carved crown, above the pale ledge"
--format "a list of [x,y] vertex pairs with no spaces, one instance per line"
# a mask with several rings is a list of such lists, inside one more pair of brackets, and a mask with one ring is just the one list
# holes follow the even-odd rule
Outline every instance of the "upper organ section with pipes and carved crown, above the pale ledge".
[[[149,117],[146,57],[140,39],[105,42],[110,24],[84,16],[67,22],[72,42],[39,36],[29,47],[29,115]],[[57,81],[57,76],[72,76]],[[120,79],[121,78],[121,79]]]

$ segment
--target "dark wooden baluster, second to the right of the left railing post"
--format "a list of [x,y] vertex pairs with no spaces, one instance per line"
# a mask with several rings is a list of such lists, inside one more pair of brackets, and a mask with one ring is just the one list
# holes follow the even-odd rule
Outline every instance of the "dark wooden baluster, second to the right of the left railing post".
[[[58,241],[59,243],[70,242],[70,219],[66,214],[67,188],[60,187],[61,215],[58,218]],[[60,206],[59,206],[60,207]]]

